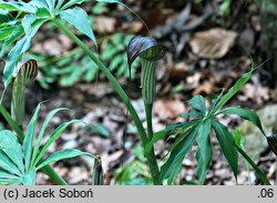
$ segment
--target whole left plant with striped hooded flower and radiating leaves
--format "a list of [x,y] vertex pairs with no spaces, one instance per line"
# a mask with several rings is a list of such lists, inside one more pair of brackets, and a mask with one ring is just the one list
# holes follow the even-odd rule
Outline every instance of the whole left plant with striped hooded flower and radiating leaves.
[[[35,174],[39,170],[49,173],[57,183],[63,184],[65,182],[52,171],[49,166],[50,163],[78,155],[90,155],[94,158],[94,155],[90,153],[81,152],[75,149],[64,149],[52,153],[47,159],[44,158],[49,146],[61,135],[61,133],[71,123],[78,122],[78,120],[72,120],[62,123],[51,133],[49,140],[45,143],[42,143],[42,139],[51,118],[59,111],[68,110],[65,108],[59,108],[51,111],[41,125],[40,132],[37,136],[37,120],[41,106],[41,104],[39,104],[27,126],[25,133],[22,133],[20,125],[22,125],[22,121],[24,120],[24,90],[27,84],[34,80],[37,74],[38,67],[35,61],[30,60],[21,65],[19,70],[17,70],[17,74],[12,80],[11,115],[4,110],[2,104],[0,106],[1,113],[18,134],[17,136],[9,130],[0,131],[0,184],[33,185],[35,184]],[[99,158],[94,159],[99,160]],[[94,166],[101,169],[100,163],[96,161]],[[99,169],[94,170],[95,174],[93,176],[101,177],[101,172],[98,173],[98,171]],[[96,180],[95,177],[93,181]],[[93,183],[103,184],[101,180]]]

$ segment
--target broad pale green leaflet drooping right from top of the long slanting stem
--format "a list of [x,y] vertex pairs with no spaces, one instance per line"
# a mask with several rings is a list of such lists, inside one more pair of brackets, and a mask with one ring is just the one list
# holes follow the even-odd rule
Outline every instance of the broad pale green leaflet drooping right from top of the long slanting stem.
[[88,35],[96,44],[96,39],[92,31],[92,22],[83,9],[75,7],[73,9],[61,11],[60,16],[61,19],[75,27],[80,32]]

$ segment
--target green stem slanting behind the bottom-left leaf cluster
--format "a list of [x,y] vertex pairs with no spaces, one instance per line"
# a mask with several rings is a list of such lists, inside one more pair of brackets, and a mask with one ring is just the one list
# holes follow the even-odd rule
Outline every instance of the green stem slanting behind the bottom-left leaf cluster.
[[[9,125],[14,130],[14,132],[18,134],[18,138],[20,142],[22,143],[24,140],[24,134],[21,131],[21,129],[18,126],[18,124],[12,120],[10,113],[6,110],[6,108],[0,104],[0,113],[3,115],[6,121],[9,123]],[[47,165],[41,169],[41,171],[45,174],[48,174],[57,184],[59,185],[66,185],[68,183],[51,168],[50,165]]]

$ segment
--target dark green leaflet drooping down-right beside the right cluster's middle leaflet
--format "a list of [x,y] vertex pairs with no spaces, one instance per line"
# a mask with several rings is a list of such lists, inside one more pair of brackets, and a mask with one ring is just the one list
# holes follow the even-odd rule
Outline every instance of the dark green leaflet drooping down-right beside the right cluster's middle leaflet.
[[235,179],[237,180],[238,159],[237,159],[237,150],[234,146],[235,143],[234,138],[229,133],[227,128],[224,126],[218,121],[212,121],[212,126],[215,131],[222,152],[226,158],[226,160],[228,161],[229,166],[235,175]]

